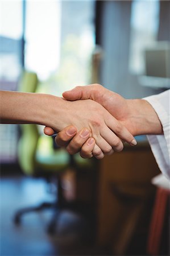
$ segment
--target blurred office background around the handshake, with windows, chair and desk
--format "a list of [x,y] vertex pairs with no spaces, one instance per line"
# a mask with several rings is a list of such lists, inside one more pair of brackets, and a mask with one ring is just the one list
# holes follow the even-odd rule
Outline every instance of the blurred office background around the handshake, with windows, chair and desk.
[[[1,90],[157,94],[170,87],[170,2],[2,1],[0,51]],[[157,205],[146,135],[82,159],[43,128],[0,126],[1,255],[169,255],[169,195]]]

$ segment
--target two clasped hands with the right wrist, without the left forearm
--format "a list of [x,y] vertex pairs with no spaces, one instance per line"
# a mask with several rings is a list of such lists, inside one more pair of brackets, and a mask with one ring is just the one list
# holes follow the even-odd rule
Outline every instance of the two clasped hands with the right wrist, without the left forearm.
[[146,100],[126,100],[102,85],[77,86],[59,99],[58,125],[55,120],[50,127],[45,124],[44,133],[57,132],[56,143],[69,154],[80,151],[82,158],[102,159],[122,151],[124,142],[135,146],[135,135],[163,134],[159,118]]

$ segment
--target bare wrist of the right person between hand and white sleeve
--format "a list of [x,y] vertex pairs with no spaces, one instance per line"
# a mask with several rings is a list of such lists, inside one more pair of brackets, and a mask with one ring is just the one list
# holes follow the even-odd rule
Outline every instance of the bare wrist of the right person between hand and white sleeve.
[[[152,106],[146,100],[127,100],[133,135],[163,134],[163,127]],[[129,123],[129,124],[130,124]]]

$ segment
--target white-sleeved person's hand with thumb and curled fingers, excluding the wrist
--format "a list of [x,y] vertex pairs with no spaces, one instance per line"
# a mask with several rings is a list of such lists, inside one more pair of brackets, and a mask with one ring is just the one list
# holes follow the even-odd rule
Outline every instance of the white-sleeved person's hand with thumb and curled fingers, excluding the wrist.
[[[91,100],[98,102],[105,109],[107,109],[107,111],[110,112],[110,114],[113,115],[121,123],[121,125],[125,126],[131,134],[136,134],[135,123],[132,122],[131,109],[128,105],[128,101],[119,94],[104,88],[102,85],[93,84],[87,86],[77,86],[68,92],[64,92],[63,97],[69,101],[85,100],[90,98]],[[59,144],[59,146],[67,146],[68,148],[73,144],[74,147],[76,147],[77,144],[77,150],[80,151],[80,154],[84,155],[85,157],[89,157],[89,155],[91,155],[90,147],[88,147],[88,145],[85,143],[85,139],[84,141],[81,141],[81,143],[77,143],[80,142],[80,135],[70,134],[68,137],[66,134],[67,129],[68,128],[66,127],[63,131],[60,131],[60,133],[57,134],[56,143]],[[52,135],[55,132],[52,129],[49,129],[49,127],[45,127],[44,133],[47,135]],[[129,142],[126,138],[124,141]],[[86,145],[86,151],[84,148],[82,148],[84,143]],[[136,141],[133,141],[133,143],[135,144]]]

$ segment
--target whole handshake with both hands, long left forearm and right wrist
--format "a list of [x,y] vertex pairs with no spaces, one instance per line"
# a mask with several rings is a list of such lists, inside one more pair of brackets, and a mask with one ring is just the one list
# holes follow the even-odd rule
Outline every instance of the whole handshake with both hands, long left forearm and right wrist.
[[[168,95],[169,91],[158,98],[168,102]],[[0,91],[0,98],[0,123],[44,125],[45,134],[58,133],[56,143],[69,154],[80,151],[82,158],[101,159],[122,151],[123,142],[135,146],[135,135],[163,134],[160,119],[166,127],[169,121],[162,109],[159,119],[147,100],[126,100],[99,84],[78,86],[63,98],[10,91]]]

